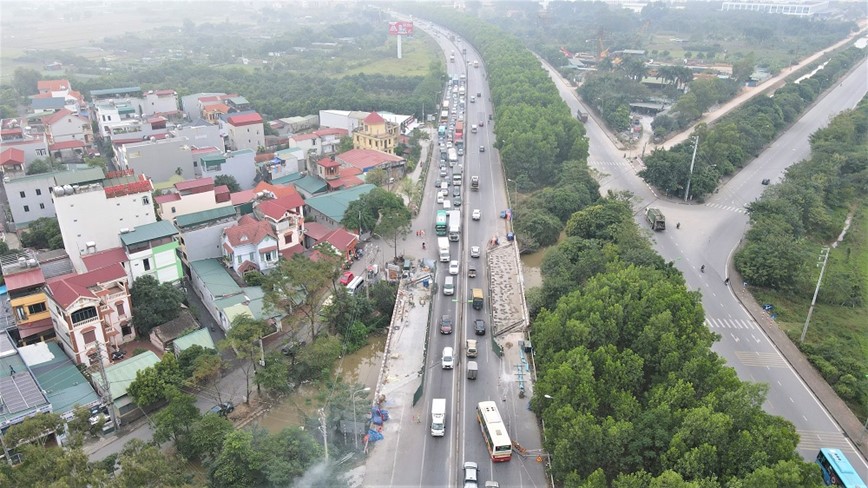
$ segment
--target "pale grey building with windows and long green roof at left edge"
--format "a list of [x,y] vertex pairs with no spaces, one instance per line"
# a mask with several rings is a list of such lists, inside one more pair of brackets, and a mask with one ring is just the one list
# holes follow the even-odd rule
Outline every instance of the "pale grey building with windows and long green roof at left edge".
[[54,199],[51,197],[53,188],[69,185],[74,191],[76,187],[102,183],[105,173],[102,168],[87,168],[75,171],[54,171],[34,175],[13,174],[6,181],[6,198],[12,220],[16,227],[43,217],[54,217]]

